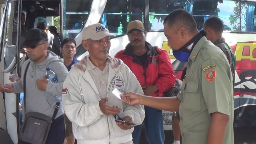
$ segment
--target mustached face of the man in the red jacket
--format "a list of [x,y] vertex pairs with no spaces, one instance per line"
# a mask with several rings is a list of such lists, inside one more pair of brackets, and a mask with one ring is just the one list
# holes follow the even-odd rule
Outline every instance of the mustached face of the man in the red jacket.
[[146,34],[141,30],[132,30],[128,33],[128,38],[132,46],[144,46],[146,42]]

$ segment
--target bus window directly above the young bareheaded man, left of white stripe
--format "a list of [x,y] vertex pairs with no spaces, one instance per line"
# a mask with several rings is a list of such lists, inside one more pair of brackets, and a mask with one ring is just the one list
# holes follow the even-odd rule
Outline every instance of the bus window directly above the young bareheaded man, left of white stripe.
[[92,0],[63,0],[63,39],[75,38],[84,27]]

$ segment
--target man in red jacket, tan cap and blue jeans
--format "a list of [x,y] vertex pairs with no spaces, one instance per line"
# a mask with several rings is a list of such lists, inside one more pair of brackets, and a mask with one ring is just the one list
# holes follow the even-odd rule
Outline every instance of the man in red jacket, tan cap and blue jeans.
[[[175,74],[170,58],[161,48],[146,42],[146,32],[141,21],[128,24],[130,43],[116,54],[132,70],[142,86],[144,95],[162,97],[175,84]],[[164,144],[162,110],[145,106],[145,135],[150,144]],[[134,144],[139,144],[142,125],[134,127]]]

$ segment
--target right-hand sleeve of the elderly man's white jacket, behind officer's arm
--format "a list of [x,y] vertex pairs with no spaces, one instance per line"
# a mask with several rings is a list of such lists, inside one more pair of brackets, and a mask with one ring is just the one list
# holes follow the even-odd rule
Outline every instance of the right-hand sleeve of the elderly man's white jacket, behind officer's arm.
[[[138,94],[143,94],[143,90],[140,86],[140,83],[138,82],[135,75],[132,73],[130,68],[126,66],[126,64],[123,64],[121,68],[124,70],[122,74],[126,78],[126,93],[128,92],[135,92]],[[136,123],[136,125],[142,124],[144,118],[145,118],[145,111],[143,105],[137,105],[137,106],[130,106],[128,104],[125,105],[124,112],[122,116],[130,116],[133,120],[133,123]]]

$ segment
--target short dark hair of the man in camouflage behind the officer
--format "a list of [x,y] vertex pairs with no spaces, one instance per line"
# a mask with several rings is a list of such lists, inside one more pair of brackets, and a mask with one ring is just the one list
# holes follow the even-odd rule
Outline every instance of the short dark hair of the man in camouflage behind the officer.
[[214,32],[223,32],[223,22],[217,16],[211,16],[204,23],[204,28],[211,28]]

